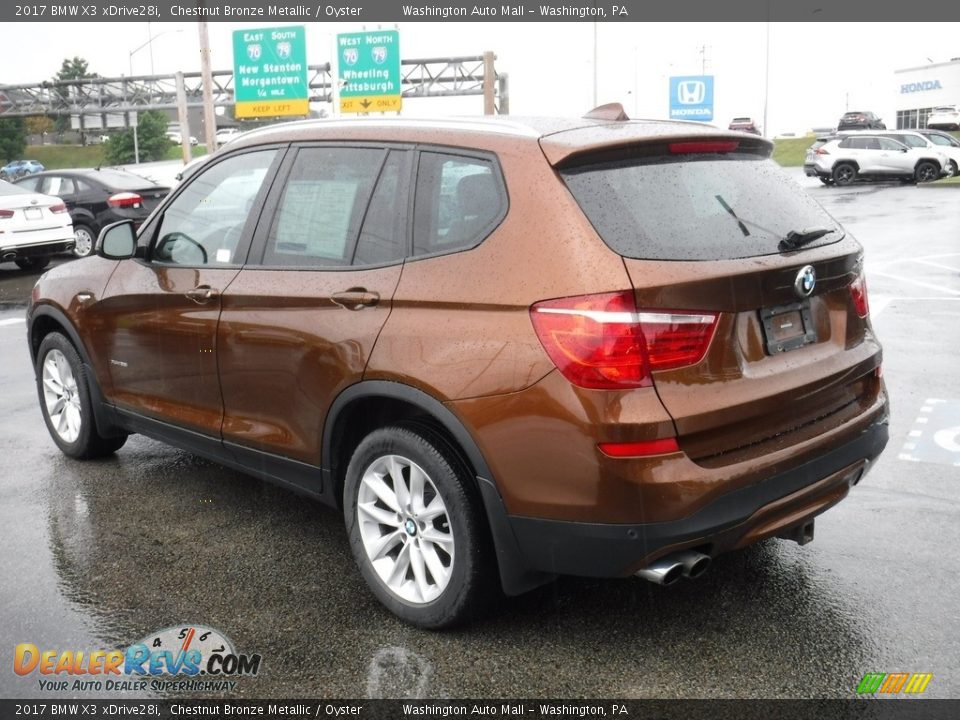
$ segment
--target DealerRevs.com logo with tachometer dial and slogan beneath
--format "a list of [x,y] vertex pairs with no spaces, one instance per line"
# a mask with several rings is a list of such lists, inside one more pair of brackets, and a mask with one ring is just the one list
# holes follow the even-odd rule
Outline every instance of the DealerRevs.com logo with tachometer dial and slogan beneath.
[[255,676],[260,661],[258,654],[238,653],[219,630],[179,625],[150,633],[125,650],[41,650],[20,643],[13,671],[39,675],[44,691],[222,692],[236,687],[235,678]]

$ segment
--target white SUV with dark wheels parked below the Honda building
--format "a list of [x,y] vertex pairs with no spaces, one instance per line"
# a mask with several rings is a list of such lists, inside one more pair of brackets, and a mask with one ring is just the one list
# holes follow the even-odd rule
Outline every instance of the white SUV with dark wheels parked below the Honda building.
[[931,182],[946,174],[949,163],[939,149],[911,148],[872,132],[818,138],[803,167],[827,185],[849,185],[862,177]]

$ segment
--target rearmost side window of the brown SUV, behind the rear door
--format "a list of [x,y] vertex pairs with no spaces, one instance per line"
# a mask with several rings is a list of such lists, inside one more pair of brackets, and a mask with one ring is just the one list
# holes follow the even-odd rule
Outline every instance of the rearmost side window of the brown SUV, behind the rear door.
[[499,224],[506,194],[489,160],[424,152],[417,171],[413,254],[473,247]]

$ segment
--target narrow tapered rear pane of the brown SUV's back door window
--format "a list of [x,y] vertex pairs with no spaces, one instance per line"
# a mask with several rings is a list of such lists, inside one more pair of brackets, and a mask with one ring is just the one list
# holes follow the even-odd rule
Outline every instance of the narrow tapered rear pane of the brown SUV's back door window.
[[399,206],[403,157],[403,153],[391,152],[380,172],[377,189],[363,219],[353,255],[354,265],[385,265],[403,259],[406,228]]

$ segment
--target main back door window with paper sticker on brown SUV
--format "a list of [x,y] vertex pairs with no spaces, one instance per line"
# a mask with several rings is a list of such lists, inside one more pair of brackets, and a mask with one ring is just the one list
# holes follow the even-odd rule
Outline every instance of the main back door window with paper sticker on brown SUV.
[[265,265],[349,265],[383,150],[304,148],[267,239]]

